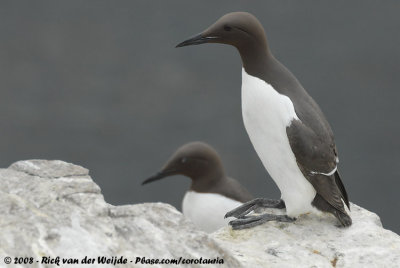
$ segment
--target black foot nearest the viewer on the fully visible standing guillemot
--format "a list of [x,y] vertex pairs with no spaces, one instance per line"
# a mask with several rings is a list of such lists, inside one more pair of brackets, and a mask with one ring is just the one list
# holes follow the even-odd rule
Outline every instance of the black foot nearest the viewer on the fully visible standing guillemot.
[[242,219],[236,219],[229,222],[233,230],[247,229],[254,226],[263,224],[267,221],[279,221],[279,222],[293,222],[294,218],[290,218],[286,215],[273,215],[273,214],[262,214],[258,216],[247,216]]

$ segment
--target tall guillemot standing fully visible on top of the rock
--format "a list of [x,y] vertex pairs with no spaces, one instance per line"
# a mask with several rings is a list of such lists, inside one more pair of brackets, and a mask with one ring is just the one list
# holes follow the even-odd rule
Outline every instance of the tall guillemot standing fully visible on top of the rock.
[[[281,191],[281,202],[258,198],[229,211],[234,229],[267,221],[294,221],[301,214],[332,213],[343,226],[352,221],[337,169],[333,133],[317,103],[296,77],[272,55],[264,28],[246,12],[229,13],[177,47],[221,43],[242,59],[242,115],[264,167]],[[246,216],[258,207],[286,207],[286,215]]]

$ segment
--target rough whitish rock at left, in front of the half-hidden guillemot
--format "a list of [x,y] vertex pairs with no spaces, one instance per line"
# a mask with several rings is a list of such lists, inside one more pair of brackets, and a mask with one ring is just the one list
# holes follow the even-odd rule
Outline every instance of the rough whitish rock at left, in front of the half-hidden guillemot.
[[0,181],[0,267],[6,256],[39,260],[29,267],[56,267],[41,265],[42,256],[78,258],[79,262],[85,256],[96,261],[98,256],[124,256],[133,261],[116,267],[145,266],[135,265],[136,257],[219,257],[229,267],[240,267],[235,257],[170,205],[107,204],[80,166],[21,161],[0,169]]

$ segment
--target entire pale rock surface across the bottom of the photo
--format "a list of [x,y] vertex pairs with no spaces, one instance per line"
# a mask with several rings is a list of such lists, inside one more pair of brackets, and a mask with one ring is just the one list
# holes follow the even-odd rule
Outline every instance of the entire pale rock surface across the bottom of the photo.
[[[137,257],[219,258],[223,267],[400,267],[400,237],[354,204],[346,229],[329,215],[304,215],[295,223],[209,235],[167,204],[107,204],[87,169],[62,161],[20,161],[0,169],[0,181],[0,267],[57,267],[41,264],[57,256],[62,267],[147,266],[135,264]],[[6,256],[34,262],[5,266]],[[82,264],[85,256],[94,264]],[[101,256],[123,256],[127,264],[99,265]],[[78,264],[63,265],[63,258]]]

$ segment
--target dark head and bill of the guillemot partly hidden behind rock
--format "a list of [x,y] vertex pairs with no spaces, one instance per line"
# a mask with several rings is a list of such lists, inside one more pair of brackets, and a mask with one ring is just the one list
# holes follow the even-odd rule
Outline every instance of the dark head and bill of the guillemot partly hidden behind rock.
[[161,171],[143,181],[142,185],[172,175],[184,175],[192,180],[214,180],[224,176],[224,170],[218,153],[211,146],[191,142],[181,146]]

